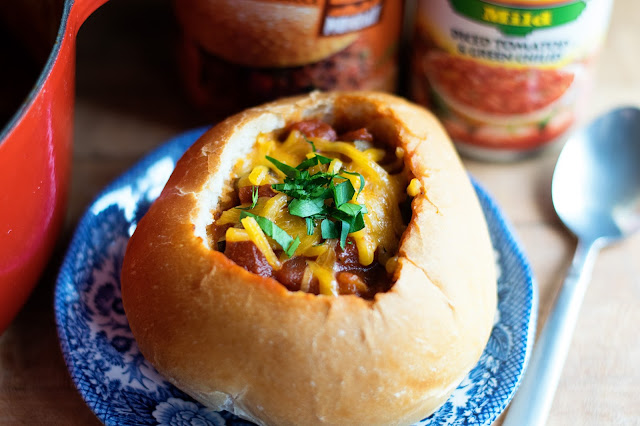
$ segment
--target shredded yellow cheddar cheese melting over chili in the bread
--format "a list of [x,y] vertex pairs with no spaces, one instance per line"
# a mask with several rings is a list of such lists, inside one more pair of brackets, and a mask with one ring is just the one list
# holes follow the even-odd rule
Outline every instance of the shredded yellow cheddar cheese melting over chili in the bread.
[[[311,142],[311,143],[308,143]],[[238,161],[234,167],[234,174],[239,176],[239,186],[260,186],[281,183],[286,177],[282,169],[277,167],[267,157],[284,163],[289,167],[296,167],[303,161],[313,159],[319,153],[330,159],[325,163],[317,163],[309,168],[309,175],[324,172],[330,174],[340,173],[340,179],[349,180],[355,193],[350,203],[357,206],[364,205],[366,214],[363,215],[364,228],[356,232],[350,232],[353,244],[358,253],[358,261],[363,266],[371,265],[378,261],[391,273],[397,264],[394,257],[398,249],[399,239],[404,231],[404,224],[400,214],[399,204],[406,195],[415,196],[421,190],[420,182],[412,179],[407,186],[406,173],[402,170],[404,150],[395,149],[395,157],[391,165],[385,167],[378,164],[386,158],[384,150],[372,148],[370,145],[362,150],[359,145],[351,142],[329,141],[321,138],[306,138],[297,130],[289,133],[284,142],[277,140],[276,134],[260,134],[256,140],[253,152]],[[318,152],[315,152],[315,150]],[[398,165],[400,166],[398,168]],[[396,170],[391,174],[387,170]],[[361,189],[361,177],[364,179],[364,187]],[[337,182],[340,182],[338,180]],[[406,191],[406,192],[405,192]],[[292,238],[299,238],[300,243],[295,248],[295,254],[307,258],[307,267],[301,282],[301,290],[308,291],[313,278],[317,279],[320,294],[337,295],[338,284],[336,282],[335,247],[336,242],[329,244],[330,240],[323,243],[320,231],[320,221],[314,223],[313,232],[309,235],[309,223],[303,217],[290,213],[288,205],[291,199],[284,193],[275,196],[261,197],[255,205],[243,204],[242,209],[251,209],[251,214],[264,217],[281,228]],[[282,262],[288,256],[282,250],[286,248],[278,245],[274,239],[269,238],[253,217],[241,218],[242,210],[230,208],[221,213],[215,222],[217,226],[229,226],[225,234],[227,242],[252,241],[264,254],[269,265],[278,270]],[[239,228],[244,227],[244,229]],[[280,254],[280,258],[276,255]],[[315,260],[314,260],[315,259]],[[356,287],[361,286],[354,281]]]

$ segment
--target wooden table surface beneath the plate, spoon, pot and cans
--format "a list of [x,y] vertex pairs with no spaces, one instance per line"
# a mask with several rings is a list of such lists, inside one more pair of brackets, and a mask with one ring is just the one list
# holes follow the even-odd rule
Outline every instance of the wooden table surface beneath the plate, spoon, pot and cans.
[[[621,104],[640,105],[639,16],[640,2],[616,1],[590,117]],[[68,220],[41,282],[0,336],[0,424],[99,424],[62,359],[54,280],[77,220],[95,194],[150,149],[210,121],[183,95],[176,32],[166,0],[112,0],[80,31]],[[557,149],[511,164],[465,160],[524,245],[539,285],[539,324],[575,247],[550,202],[556,158]],[[549,425],[640,425],[638,324],[640,235],[604,250],[597,260]]]

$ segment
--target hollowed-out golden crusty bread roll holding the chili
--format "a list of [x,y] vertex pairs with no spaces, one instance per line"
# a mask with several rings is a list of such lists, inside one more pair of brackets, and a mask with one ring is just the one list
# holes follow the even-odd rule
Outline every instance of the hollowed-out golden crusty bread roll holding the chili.
[[[400,146],[424,189],[395,282],[373,300],[288,291],[209,247],[236,160],[260,132],[305,118]],[[129,242],[122,297],[145,357],[207,406],[258,424],[410,424],[478,361],[494,265],[473,188],[430,113],[387,94],[315,92],[235,115],[185,153]]]

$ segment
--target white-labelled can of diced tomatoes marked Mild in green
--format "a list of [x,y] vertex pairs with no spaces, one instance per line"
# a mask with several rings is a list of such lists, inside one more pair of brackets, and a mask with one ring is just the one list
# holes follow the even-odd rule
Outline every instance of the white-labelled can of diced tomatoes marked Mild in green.
[[419,0],[414,100],[465,155],[514,160],[580,121],[613,0]]

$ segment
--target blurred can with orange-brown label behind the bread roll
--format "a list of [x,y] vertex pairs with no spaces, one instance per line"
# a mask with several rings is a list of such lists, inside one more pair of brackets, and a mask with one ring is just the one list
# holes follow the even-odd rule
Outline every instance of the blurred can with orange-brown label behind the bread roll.
[[184,81],[222,114],[311,90],[394,91],[399,0],[175,0]]

